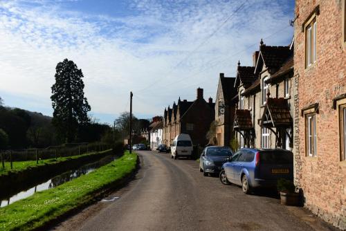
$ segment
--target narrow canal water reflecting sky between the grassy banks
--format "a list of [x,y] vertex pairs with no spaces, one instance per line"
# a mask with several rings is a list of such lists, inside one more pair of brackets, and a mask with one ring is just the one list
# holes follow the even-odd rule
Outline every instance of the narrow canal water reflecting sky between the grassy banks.
[[115,159],[115,156],[106,156],[98,160],[97,162],[89,163],[87,165],[83,165],[78,169],[74,169],[69,172],[64,172],[63,174],[60,174],[58,176],[54,176],[53,178],[49,179],[44,183],[39,183],[34,187],[31,187],[29,190],[19,192],[15,195],[10,195],[8,196],[8,198],[0,198],[0,207],[5,207],[7,205],[14,203],[15,201],[19,201],[21,199],[27,198],[28,196],[32,196],[33,194],[35,194],[35,192],[48,190],[53,187],[57,187],[58,185],[62,185],[63,183],[66,183],[68,181],[72,181],[73,179],[78,178],[82,175],[89,174],[90,172],[93,172],[95,169],[98,169],[103,165],[111,163],[111,161]]

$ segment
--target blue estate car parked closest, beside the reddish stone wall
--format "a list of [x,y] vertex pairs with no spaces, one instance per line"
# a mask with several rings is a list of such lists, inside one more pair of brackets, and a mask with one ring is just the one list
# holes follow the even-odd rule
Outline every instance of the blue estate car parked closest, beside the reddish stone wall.
[[219,178],[224,185],[241,185],[245,194],[257,187],[276,187],[279,178],[293,181],[293,154],[284,149],[240,149],[224,163]]

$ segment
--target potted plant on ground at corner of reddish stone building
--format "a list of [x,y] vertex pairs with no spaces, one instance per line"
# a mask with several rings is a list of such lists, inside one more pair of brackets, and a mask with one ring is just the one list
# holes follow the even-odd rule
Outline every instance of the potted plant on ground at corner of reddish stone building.
[[298,206],[300,203],[300,194],[295,192],[295,185],[292,181],[280,178],[277,181],[277,190],[280,192],[282,205]]

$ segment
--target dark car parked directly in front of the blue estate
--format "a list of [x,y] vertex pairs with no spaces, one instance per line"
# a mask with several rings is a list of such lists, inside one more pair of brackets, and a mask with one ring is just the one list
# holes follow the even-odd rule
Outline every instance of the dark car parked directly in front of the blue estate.
[[222,165],[230,160],[232,156],[233,151],[229,147],[206,147],[199,158],[199,172],[203,172],[203,176],[219,173]]

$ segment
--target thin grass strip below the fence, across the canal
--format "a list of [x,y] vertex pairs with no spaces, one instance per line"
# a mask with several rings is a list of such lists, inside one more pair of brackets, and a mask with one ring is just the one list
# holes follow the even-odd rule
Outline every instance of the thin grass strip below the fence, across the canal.
[[[109,151],[109,150],[106,150],[106,151]],[[47,165],[47,164],[55,164],[55,163],[66,161],[66,160],[80,158],[81,156],[86,156],[86,155],[91,155],[91,154],[99,154],[99,153],[103,153],[103,152],[105,152],[105,151],[89,152],[89,154],[82,154],[82,155],[77,155],[77,156],[58,157],[56,159],[51,158],[51,159],[46,159],[46,160],[39,160],[38,164],[36,163],[36,160],[16,161],[16,162],[12,162],[13,169],[11,169],[10,162],[5,162],[5,168],[3,169],[1,161],[0,161],[0,176],[2,174],[8,174],[8,172],[21,171],[21,170],[27,169],[28,167]]]

